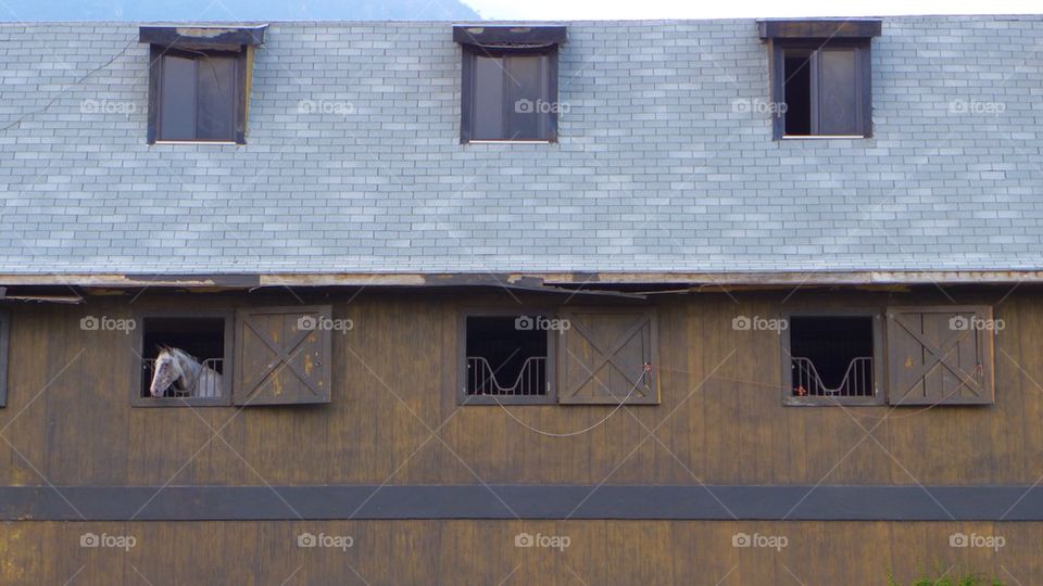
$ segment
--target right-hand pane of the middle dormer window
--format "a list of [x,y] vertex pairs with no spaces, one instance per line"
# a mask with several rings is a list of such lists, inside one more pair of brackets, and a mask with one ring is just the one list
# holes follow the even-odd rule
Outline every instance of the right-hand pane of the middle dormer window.
[[553,106],[546,91],[546,56],[522,55],[504,59],[507,68],[507,137],[538,140],[545,137],[546,118]]

